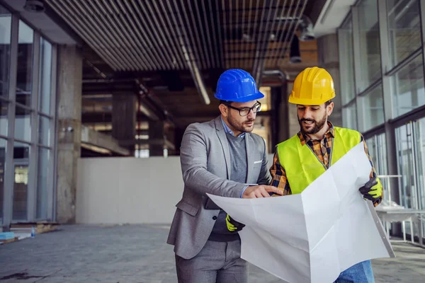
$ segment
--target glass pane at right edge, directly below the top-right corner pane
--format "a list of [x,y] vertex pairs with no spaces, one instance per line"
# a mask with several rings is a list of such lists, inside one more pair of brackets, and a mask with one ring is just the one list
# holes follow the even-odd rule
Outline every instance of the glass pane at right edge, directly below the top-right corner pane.
[[425,105],[424,68],[422,55],[392,76],[392,92],[395,93],[395,116],[403,115]]

